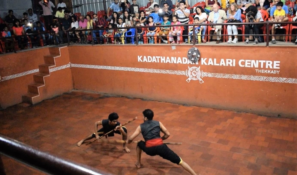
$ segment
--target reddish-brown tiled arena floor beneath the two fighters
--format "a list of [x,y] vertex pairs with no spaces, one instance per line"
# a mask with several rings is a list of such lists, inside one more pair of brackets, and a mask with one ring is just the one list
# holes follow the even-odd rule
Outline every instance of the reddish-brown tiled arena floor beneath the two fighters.
[[[169,142],[183,142],[169,147],[197,173],[297,174],[294,119],[72,91],[34,106],[16,105],[0,111],[0,133],[113,174],[187,174],[178,165],[145,154],[144,168],[137,169],[135,144],[129,145],[129,154],[121,144],[94,142],[76,146],[93,132],[95,121],[107,118],[111,112],[119,114],[121,123],[138,116],[127,125],[131,134],[142,123],[141,112],[146,108],[152,109],[155,119],[170,131]],[[8,175],[42,174],[9,158],[2,159]]]

